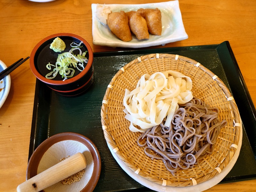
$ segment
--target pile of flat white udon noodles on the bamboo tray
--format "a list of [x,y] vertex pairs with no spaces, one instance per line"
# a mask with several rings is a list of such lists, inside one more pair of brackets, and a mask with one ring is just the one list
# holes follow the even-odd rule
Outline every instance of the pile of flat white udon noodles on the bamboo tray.
[[193,98],[191,89],[191,78],[177,71],[142,75],[136,88],[132,91],[125,89],[124,93],[123,103],[128,111],[124,118],[131,122],[129,129],[132,132],[145,132],[161,124],[166,116],[164,125],[169,126],[175,110],[179,108],[178,104],[187,103]]

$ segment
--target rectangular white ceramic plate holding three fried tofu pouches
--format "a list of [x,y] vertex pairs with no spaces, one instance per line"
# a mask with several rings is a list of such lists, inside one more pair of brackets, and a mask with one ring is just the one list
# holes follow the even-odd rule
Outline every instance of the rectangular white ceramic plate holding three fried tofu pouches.
[[149,35],[147,40],[138,40],[135,36],[132,36],[132,41],[124,42],[113,35],[108,28],[97,20],[96,12],[97,4],[92,4],[92,37],[93,44],[105,45],[110,47],[130,47],[140,48],[155,45],[165,45],[175,41],[180,41],[188,38],[185,31],[181,12],[179,7],[179,1],[169,1],[162,3],[150,3],[150,4],[105,4],[109,6],[112,12],[128,12],[136,11],[140,8],[158,8],[162,13],[162,35]]

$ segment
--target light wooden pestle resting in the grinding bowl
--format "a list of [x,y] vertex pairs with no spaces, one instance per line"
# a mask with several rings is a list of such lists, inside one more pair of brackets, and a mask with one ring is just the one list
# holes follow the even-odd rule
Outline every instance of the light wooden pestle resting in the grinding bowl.
[[76,153],[73,156],[61,161],[60,163],[46,169],[38,175],[21,183],[17,187],[17,192],[38,192],[47,188],[86,167],[86,159],[82,153]]

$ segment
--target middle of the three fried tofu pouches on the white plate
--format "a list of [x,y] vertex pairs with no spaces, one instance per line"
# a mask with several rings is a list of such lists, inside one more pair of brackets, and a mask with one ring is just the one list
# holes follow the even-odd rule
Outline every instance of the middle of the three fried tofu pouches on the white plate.
[[141,13],[130,11],[126,12],[126,15],[128,17],[130,29],[137,39],[149,39],[147,22],[144,17],[142,17]]

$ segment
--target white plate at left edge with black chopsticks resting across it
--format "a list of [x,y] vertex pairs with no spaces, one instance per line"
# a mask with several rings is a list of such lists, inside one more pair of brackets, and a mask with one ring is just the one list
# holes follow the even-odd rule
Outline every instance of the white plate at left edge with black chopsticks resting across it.
[[[6,65],[0,60],[0,72],[6,69]],[[5,76],[0,80],[0,108],[3,106],[11,87],[11,77],[10,75]]]

